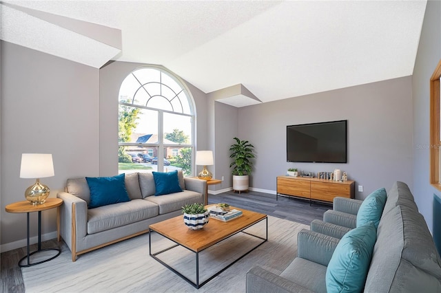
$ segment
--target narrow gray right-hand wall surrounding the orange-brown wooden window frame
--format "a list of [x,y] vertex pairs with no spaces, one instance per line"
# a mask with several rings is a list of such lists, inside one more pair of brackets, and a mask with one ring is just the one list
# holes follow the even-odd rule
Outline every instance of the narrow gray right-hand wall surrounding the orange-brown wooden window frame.
[[[427,1],[426,14],[418,55],[412,76],[413,89],[413,196],[432,230],[433,221],[440,221],[441,215],[433,217],[433,195],[440,191],[429,184],[429,80],[441,58],[441,2]],[[433,231],[440,233],[441,231]]]

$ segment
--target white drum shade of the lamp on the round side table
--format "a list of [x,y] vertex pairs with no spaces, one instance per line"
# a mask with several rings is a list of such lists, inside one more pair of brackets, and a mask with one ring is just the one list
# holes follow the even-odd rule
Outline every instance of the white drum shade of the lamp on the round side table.
[[20,178],[43,178],[54,175],[51,153],[21,154]]

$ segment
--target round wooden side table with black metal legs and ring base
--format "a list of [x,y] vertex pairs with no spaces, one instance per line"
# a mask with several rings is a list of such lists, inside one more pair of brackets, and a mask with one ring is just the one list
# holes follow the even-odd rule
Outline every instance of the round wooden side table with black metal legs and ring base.
[[[59,248],[45,248],[41,249],[41,211],[42,210],[50,210],[51,208],[57,208],[57,232],[59,233],[60,228],[60,216],[59,216],[59,206],[63,204],[63,199],[60,198],[48,198],[46,199],[46,202],[44,204],[37,204],[33,206],[30,202],[27,200],[23,202],[15,202],[14,204],[8,204],[6,206],[6,212],[8,213],[27,213],[28,214],[28,231],[27,231],[27,238],[28,238],[28,246],[27,248],[27,255],[20,259],[19,261],[19,267],[30,267],[32,265],[38,265],[39,263],[45,263],[46,261],[50,261],[56,257],[58,257],[61,253],[61,250]],[[29,243],[29,214],[33,212],[39,212],[39,242],[38,242],[38,249],[34,252],[30,252],[30,243]],[[37,252],[46,251],[46,250],[55,250],[58,251],[58,253],[54,257],[50,257],[49,259],[44,259],[43,261],[38,261],[36,263],[30,263],[30,256],[32,254],[35,254]],[[24,259],[28,259],[28,263],[21,264],[21,262]]]

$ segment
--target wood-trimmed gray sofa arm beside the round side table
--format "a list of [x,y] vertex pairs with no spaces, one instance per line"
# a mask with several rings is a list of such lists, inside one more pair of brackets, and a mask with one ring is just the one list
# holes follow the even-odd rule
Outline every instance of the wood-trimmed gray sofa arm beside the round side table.
[[79,239],[84,238],[88,231],[88,204],[66,192],[58,193],[57,197],[63,199],[60,206],[60,234],[72,251],[72,261],[75,261]]

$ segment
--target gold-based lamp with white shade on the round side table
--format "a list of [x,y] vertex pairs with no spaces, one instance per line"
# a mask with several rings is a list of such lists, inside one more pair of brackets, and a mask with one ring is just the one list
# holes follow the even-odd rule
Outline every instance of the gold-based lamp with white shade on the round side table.
[[50,189],[40,183],[40,178],[54,176],[54,162],[50,153],[21,154],[20,178],[36,178],[37,181],[25,191],[32,205],[44,204]]

